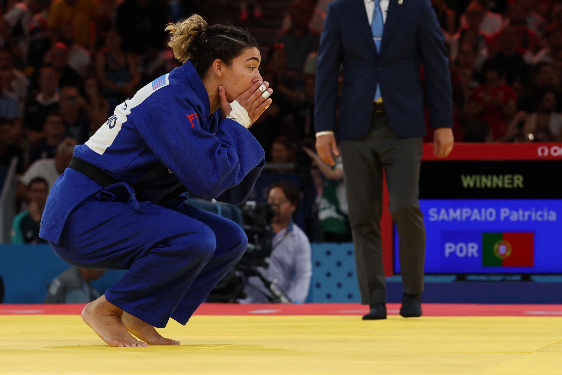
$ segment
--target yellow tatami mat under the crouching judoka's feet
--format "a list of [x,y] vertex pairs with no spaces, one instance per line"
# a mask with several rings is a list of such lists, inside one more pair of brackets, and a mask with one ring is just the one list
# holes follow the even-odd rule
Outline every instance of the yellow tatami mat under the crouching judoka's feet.
[[203,316],[108,347],[78,315],[0,316],[1,374],[562,374],[560,317]]

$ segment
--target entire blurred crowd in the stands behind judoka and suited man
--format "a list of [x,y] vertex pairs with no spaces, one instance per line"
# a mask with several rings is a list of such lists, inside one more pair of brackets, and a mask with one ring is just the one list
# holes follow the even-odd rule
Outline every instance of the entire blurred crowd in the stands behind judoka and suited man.
[[[268,155],[264,173],[297,176],[320,227],[320,237],[303,228],[310,238],[351,240],[341,160],[332,168],[314,151],[315,52],[330,0],[276,1],[285,13],[265,0],[0,0],[0,165],[17,157],[21,212],[37,222],[37,191],[48,191],[74,145],[178,66],[168,22],[199,12],[212,23],[204,11],[228,6],[250,31],[280,25],[260,47],[273,104],[250,129]],[[432,4],[450,56],[455,141],[561,141],[562,1]],[[25,234],[20,241],[40,241]]]

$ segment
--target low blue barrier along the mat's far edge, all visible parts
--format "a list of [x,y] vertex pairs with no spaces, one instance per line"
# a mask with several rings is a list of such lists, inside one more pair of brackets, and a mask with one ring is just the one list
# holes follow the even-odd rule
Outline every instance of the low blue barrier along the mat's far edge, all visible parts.
[[[0,245],[0,276],[4,279],[4,303],[43,302],[49,282],[70,266],[48,245]],[[107,271],[92,285],[100,293],[125,271]],[[562,304],[562,277],[474,276],[455,281],[451,276],[425,278],[424,302],[481,304]],[[387,279],[387,301],[401,302],[400,276]],[[351,243],[312,244],[312,280],[307,302],[360,302]]]

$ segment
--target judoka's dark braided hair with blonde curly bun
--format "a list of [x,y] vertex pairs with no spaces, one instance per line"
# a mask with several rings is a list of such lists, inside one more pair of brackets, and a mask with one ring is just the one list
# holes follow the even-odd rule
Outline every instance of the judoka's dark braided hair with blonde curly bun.
[[257,47],[256,40],[246,31],[230,25],[207,26],[207,21],[196,14],[168,24],[166,31],[171,34],[168,46],[174,56],[181,62],[191,60],[200,77],[205,76],[217,58],[230,65],[244,49]]

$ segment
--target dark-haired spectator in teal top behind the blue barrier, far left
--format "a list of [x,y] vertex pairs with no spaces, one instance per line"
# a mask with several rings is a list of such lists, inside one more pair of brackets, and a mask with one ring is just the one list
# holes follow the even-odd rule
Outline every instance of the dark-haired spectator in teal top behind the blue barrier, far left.
[[47,243],[39,237],[39,224],[47,201],[49,188],[42,177],[31,179],[28,184],[27,196],[29,206],[27,210],[17,214],[12,224],[12,244]]

